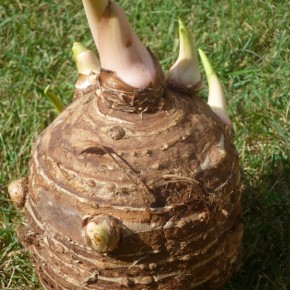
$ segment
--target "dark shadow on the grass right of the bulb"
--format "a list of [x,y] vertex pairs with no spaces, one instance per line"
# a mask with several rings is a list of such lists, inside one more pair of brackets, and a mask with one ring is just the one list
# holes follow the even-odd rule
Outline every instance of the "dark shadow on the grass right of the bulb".
[[290,162],[276,158],[262,176],[245,172],[244,259],[224,290],[290,289]]

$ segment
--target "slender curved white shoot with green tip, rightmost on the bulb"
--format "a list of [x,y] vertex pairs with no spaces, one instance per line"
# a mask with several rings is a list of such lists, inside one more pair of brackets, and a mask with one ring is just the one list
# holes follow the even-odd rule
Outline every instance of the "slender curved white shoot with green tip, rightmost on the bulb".
[[222,84],[213,70],[205,53],[199,49],[199,55],[208,81],[208,105],[221,119],[221,121],[232,127],[232,122],[227,113],[226,99]]

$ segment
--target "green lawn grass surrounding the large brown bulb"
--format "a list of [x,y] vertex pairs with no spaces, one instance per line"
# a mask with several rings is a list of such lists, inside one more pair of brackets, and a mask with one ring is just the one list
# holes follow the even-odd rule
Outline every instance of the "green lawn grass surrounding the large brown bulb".
[[[165,69],[178,54],[180,16],[227,88],[234,142],[243,167],[245,239],[241,270],[224,289],[290,289],[287,1],[120,3]],[[1,289],[39,289],[28,254],[16,239],[21,217],[6,188],[27,173],[32,144],[55,117],[43,96],[45,87],[51,85],[66,104],[72,100],[74,41],[94,49],[81,1],[1,1]]]

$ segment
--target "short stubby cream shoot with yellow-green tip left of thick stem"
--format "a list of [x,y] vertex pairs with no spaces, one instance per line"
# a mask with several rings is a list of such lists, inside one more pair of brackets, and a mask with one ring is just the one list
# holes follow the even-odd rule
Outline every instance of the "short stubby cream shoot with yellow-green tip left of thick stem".
[[73,44],[72,52],[79,74],[88,76],[91,73],[98,74],[100,72],[101,65],[99,59],[80,42]]

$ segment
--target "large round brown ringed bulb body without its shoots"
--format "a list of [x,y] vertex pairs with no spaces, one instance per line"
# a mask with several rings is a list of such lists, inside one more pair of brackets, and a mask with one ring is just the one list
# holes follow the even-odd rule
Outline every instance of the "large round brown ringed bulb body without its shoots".
[[230,132],[157,76],[137,91],[102,71],[37,141],[19,237],[45,289],[216,289],[237,271]]

